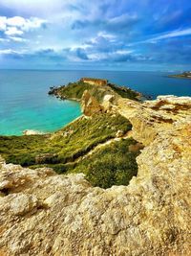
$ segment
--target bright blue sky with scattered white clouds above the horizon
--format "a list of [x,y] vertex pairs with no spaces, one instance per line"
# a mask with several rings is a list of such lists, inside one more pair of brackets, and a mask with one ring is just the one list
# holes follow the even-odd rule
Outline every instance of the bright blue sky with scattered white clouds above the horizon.
[[191,1],[0,0],[0,68],[191,70]]

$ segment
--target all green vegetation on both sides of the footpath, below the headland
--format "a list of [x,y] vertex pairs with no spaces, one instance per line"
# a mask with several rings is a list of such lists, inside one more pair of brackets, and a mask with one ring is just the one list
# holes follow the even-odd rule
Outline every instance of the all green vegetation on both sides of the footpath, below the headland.
[[102,188],[127,185],[138,172],[139,151],[129,151],[130,145],[136,145],[135,140],[119,139],[87,153],[115,138],[118,130],[125,134],[131,128],[119,114],[81,117],[49,135],[0,136],[0,154],[7,163],[52,167],[58,174],[84,173],[94,186]]

